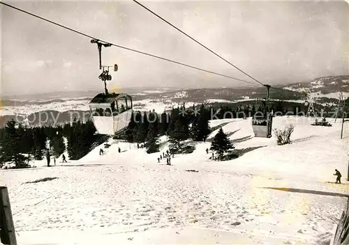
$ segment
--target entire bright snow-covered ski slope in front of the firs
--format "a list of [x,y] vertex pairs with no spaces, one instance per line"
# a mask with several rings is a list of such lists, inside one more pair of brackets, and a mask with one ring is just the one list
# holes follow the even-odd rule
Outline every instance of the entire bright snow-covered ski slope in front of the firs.
[[[348,122],[311,126],[307,118],[277,117],[273,128],[295,125],[291,145],[253,137],[251,118],[214,120],[244,155],[211,161],[206,143],[172,166],[134,144],[116,142],[79,161],[1,171],[17,241],[34,244],[328,244],[349,193]],[[163,141],[166,139],[163,137]],[[161,152],[167,148],[163,144]],[[121,148],[121,153],[117,148]],[[334,169],[343,184],[334,182]],[[188,170],[195,170],[188,171]],[[44,177],[47,182],[26,184]],[[265,189],[267,187],[285,188]],[[311,192],[311,193],[309,193]],[[328,193],[330,192],[330,193]]]

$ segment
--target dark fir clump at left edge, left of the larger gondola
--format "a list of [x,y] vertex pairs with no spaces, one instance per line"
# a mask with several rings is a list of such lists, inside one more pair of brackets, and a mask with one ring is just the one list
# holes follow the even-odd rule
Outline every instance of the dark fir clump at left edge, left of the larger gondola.
[[4,163],[10,163],[15,168],[27,168],[30,161],[42,160],[47,150],[55,157],[67,151],[69,159],[80,159],[93,145],[102,143],[103,136],[96,135],[95,132],[90,120],[74,120],[72,124],[58,127],[24,127],[15,120],[10,120],[0,129],[0,167]]

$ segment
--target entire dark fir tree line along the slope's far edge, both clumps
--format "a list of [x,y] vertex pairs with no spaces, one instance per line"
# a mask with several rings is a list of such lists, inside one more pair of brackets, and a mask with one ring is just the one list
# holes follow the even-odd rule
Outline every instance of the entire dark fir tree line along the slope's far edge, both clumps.
[[[153,153],[159,151],[159,137],[165,135],[169,138],[170,150],[174,154],[183,148],[182,141],[206,141],[211,133],[209,120],[243,118],[253,116],[258,111],[265,112],[271,109],[285,113],[281,102],[272,104],[270,108],[261,104],[257,109],[254,104],[218,108],[201,104],[191,108],[186,108],[185,105],[178,106],[163,113],[134,111],[128,130],[117,138],[130,143],[143,143],[147,153]],[[67,140],[67,149],[64,138]],[[80,159],[105,140],[105,136],[96,134],[91,120],[74,120],[71,124],[66,123],[58,127],[26,127],[11,120],[6,127],[0,129],[0,164],[12,163],[15,164],[15,168],[24,168],[34,159],[43,159],[47,150],[56,157],[67,150],[69,159]]]

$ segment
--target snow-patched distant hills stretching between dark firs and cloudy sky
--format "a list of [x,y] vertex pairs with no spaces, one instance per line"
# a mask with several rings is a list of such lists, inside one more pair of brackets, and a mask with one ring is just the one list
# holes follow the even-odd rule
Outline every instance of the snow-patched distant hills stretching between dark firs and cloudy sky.
[[[349,97],[349,75],[319,77],[308,83],[283,84],[274,86],[280,89],[270,90],[270,100],[283,100],[295,104],[304,104],[306,101],[306,90],[313,95],[316,104],[321,106],[335,106],[338,104],[339,91],[344,97]],[[253,88],[129,88],[122,90],[129,93],[133,98],[133,109],[135,111],[149,111],[155,109],[157,112],[169,110],[172,106],[185,103],[186,106],[193,104],[255,104],[267,97],[267,89],[263,86]],[[38,123],[40,112],[50,112],[54,118],[60,114],[59,122],[69,121],[74,112],[89,118],[89,101],[98,92],[70,91],[59,95],[50,93],[46,95],[30,95],[29,100],[24,97],[2,97],[0,127],[10,119],[24,120],[28,118],[34,124]],[[100,92],[101,93],[101,92]],[[51,97],[50,97],[51,96]],[[63,96],[63,97],[61,97]],[[32,119],[32,120],[31,120]],[[51,121],[51,119],[50,119]]]

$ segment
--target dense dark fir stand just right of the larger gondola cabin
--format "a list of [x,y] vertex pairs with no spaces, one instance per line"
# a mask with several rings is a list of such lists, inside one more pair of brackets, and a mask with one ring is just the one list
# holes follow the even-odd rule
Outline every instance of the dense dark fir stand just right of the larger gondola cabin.
[[131,143],[144,143],[148,153],[159,151],[159,137],[164,135],[168,136],[174,148],[179,148],[181,141],[189,138],[193,141],[205,141],[211,132],[210,110],[204,105],[195,110],[181,106],[173,108],[169,113],[135,112],[128,131],[120,138]]

